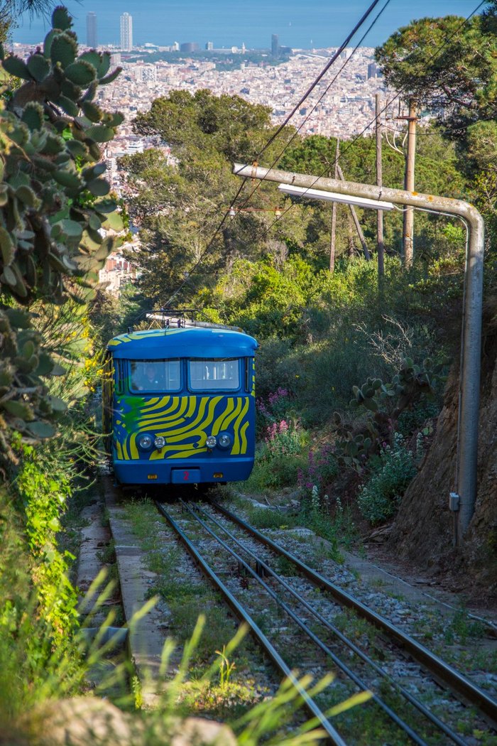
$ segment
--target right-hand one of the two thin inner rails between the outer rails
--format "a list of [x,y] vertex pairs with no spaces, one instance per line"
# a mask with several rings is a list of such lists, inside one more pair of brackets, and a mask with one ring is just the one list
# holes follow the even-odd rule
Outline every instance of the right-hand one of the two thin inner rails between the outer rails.
[[259,565],[262,567],[268,574],[270,574],[271,577],[273,577],[275,580],[280,583],[285,590],[287,590],[294,598],[302,604],[309,612],[311,612],[312,615],[314,615],[315,618],[320,622],[320,624],[323,625],[323,627],[326,627],[330,632],[332,632],[335,636],[338,637],[338,639],[344,643],[351,651],[353,651],[361,660],[366,663],[367,665],[370,665],[374,671],[376,671],[379,676],[383,677],[384,680],[386,680],[392,687],[395,689],[396,692],[398,692],[402,697],[404,697],[406,700],[408,700],[411,705],[416,707],[419,712],[421,712],[422,715],[425,716],[431,723],[437,727],[439,730],[442,730],[443,733],[446,734],[446,736],[449,737],[455,744],[458,744],[458,746],[466,746],[466,741],[464,739],[461,739],[460,736],[458,736],[458,733],[455,733],[454,730],[452,730],[451,727],[446,725],[440,718],[437,718],[437,715],[434,715],[431,710],[429,710],[427,707],[425,707],[420,700],[414,697],[414,695],[411,695],[411,692],[408,692],[407,689],[405,689],[402,684],[399,684],[396,682],[396,680],[387,673],[387,671],[384,671],[384,668],[382,668],[378,663],[376,663],[370,656],[368,656],[364,651],[361,651],[361,648],[358,648],[357,645],[355,645],[352,640],[350,640],[348,637],[346,637],[343,633],[341,633],[340,630],[338,630],[338,627],[335,627],[334,624],[332,624],[328,619],[325,619],[323,615],[320,614],[320,612],[317,611],[317,609],[314,609],[314,606],[311,606],[311,604],[306,601],[305,598],[300,596],[297,591],[295,591],[283,578],[277,574],[273,568],[270,567],[270,565],[267,564],[264,560],[262,560],[260,557],[257,556],[251,549],[247,548],[239,539],[232,534],[229,529],[227,529],[226,526],[223,526],[223,524],[220,523],[220,521],[217,520],[217,518],[214,518],[213,515],[210,513],[207,513],[206,510],[203,509],[200,505],[195,506],[195,510],[200,511],[203,513],[203,515],[206,515],[207,518],[209,518],[210,521],[216,524],[221,530],[224,531],[224,533],[229,536],[230,539],[232,539],[233,542],[235,542],[238,547],[240,547],[244,552],[246,552],[252,559],[256,562],[256,565]]

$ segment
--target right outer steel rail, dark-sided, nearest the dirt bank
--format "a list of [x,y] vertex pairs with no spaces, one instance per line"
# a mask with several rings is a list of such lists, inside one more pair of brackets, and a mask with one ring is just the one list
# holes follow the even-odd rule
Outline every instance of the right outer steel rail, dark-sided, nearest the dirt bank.
[[328,591],[334,596],[334,598],[338,599],[341,604],[347,606],[349,609],[353,609],[358,615],[367,619],[370,624],[373,624],[379,630],[386,633],[387,636],[394,639],[396,643],[400,645],[401,648],[405,648],[405,650],[408,651],[417,662],[424,665],[432,675],[442,680],[450,689],[452,689],[453,692],[458,692],[458,694],[462,695],[469,703],[478,707],[484,715],[487,715],[487,717],[493,721],[493,724],[497,725],[497,701],[490,698],[486,692],[463,677],[459,671],[452,668],[452,665],[449,665],[441,658],[434,655],[434,653],[428,651],[428,648],[425,648],[411,636],[399,630],[391,624],[390,621],[387,621],[387,619],[377,614],[373,609],[370,609],[369,606],[366,606],[361,601],[358,601],[357,598],[354,598],[339,586],[336,586],[335,583],[332,583],[332,581],[327,577],[324,577],[308,567],[305,562],[299,560],[298,557],[295,557],[282,546],[273,542],[272,539],[269,539],[268,536],[265,536],[253,526],[250,526],[246,521],[239,518],[238,515],[235,515],[235,513],[232,513],[230,510],[227,510],[227,508],[215,501],[209,500],[209,502],[215,506],[216,510],[227,515],[228,518],[231,518],[232,521],[243,527],[251,533],[252,536],[259,539],[260,542],[273,549],[273,551],[276,551],[276,553],[280,554],[282,557],[286,557],[290,562],[293,562],[294,565],[296,565],[308,578],[308,580],[314,584],[314,586],[317,586],[321,590]]

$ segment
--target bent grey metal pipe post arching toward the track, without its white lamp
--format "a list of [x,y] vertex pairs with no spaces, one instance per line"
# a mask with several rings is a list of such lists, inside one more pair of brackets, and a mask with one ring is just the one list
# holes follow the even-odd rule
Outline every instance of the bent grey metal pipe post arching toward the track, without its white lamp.
[[[460,371],[460,410],[457,476],[455,489],[458,495],[459,543],[475,512],[476,477],[478,465],[478,408],[480,401],[480,357],[481,357],[481,308],[483,296],[484,266],[484,220],[478,210],[460,199],[436,195],[406,192],[373,184],[358,184],[354,181],[308,174],[296,174],[262,166],[247,166],[235,163],[233,173],[237,176],[279,184],[294,184],[308,189],[323,189],[328,192],[351,195],[373,200],[389,201],[393,204],[418,207],[434,213],[458,216],[466,222],[469,231],[466,257],[466,294],[463,305],[463,354]],[[452,491],[449,486],[449,491]]]

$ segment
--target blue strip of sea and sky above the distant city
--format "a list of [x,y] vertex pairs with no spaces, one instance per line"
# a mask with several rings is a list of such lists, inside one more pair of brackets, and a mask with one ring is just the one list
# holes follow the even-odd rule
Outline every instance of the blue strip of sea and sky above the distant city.
[[[62,1],[62,0],[59,0]],[[269,48],[271,34],[279,44],[294,48],[339,46],[369,7],[371,0],[66,0],[75,18],[75,31],[86,43],[86,13],[97,15],[98,44],[119,43],[119,16],[133,16],[133,43],[169,46],[175,41],[207,41],[215,47]],[[386,0],[373,11],[373,20]],[[378,46],[393,31],[425,16],[469,16],[478,0],[390,0],[362,46]],[[483,6],[484,7],[484,6]],[[481,11],[480,11],[481,12]],[[363,32],[367,26],[363,27]],[[22,16],[13,41],[36,45],[48,22]],[[352,40],[357,43],[358,37]]]

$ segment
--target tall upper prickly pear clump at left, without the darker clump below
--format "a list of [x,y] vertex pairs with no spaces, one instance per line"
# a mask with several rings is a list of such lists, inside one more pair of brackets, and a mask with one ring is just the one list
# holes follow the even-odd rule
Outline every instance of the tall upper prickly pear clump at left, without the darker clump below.
[[123,116],[94,102],[120,71],[108,75],[108,52],[77,54],[66,8],[52,25],[26,62],[0,45],[4,72],[25,81],[0,108],[0,283],[22,304],[62,303],[75,283],[91,295],[113,248],[100,228],[123,227],[98,163]]

